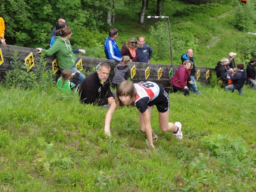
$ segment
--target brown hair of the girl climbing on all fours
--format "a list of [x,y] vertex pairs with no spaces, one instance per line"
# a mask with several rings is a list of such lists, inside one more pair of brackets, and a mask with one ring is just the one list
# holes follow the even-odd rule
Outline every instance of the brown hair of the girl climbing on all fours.
[[134,84],[131,81],[125,80],[117,86],[117,92],[116,92],[116,98],[115,98],[117,107],[124,106],[124,104],[119,98],[119,96],[122,96],[122,95],[130,96],[130,100],[127,102],[127,106],[134,105],[134,99],[136,98],[137,92],[134,87]]

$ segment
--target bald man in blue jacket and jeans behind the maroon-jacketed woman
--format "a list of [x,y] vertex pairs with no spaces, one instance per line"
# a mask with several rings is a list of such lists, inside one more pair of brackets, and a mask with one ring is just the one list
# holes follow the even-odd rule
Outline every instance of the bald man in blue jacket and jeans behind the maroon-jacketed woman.
[[193,59],[193,50],[192,49],[188,49],[187,50],[187,53],[184,53],[182,56],[181,56],[181,61],[183,64],[183,62],[185,60],[191,60],[192,63],[193,63],[193,68],[191,69],[191,73],[190,73],[190,78],[188,78],[189,80],[191,79],[192,80],[192,84],[189,84],[188,83],[188,89],[192,92],[192,93],[196,93],[196,94],[201,94],[201,92],[198,90],[197,86],[196,86],[196,80],[195,80],[195,73],[196,73],[196,66],[195,66],[195,63],[194,63],[194,59]]

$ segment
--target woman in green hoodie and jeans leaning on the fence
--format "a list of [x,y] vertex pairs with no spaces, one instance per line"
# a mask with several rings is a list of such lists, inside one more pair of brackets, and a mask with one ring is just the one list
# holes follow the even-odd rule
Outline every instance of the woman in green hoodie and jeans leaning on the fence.
[[72,47],[69,41],[72,36],[72,31],[69,27],[64,27],[57,33],[59,33],[60,36],[55,37],[54,44],[50,49],[37,48],[38,53],[44,53],[45,56],[51,56],[55,53],[60,71],[63,69],[71,69],[73,73],[79,73],[78,81],[81,83],[83,79],[85,79],[85,76],[75,68],[77,59],[72,52]]

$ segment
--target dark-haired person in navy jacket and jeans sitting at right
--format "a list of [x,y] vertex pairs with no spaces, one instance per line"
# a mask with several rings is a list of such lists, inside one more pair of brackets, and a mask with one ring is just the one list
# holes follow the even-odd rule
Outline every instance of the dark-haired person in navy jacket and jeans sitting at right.
[[231,75],[230,79],[232,80],[231,85],[227,85],[225,87],[226,91],[235,90],[237,89],[239,92],[239,95],[244,95],[243,93],[243,87],[245,84],[245,79],[247,78],[246,72],[244,71],[244,64],[238,64],[238,72],[235,75]]

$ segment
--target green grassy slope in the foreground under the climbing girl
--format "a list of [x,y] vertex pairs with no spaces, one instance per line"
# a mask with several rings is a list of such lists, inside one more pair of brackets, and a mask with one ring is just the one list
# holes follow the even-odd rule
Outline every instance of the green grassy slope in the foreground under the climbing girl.
[[140,132],[136,108],[80,105],[78,94],[0,88],[0,188],[4,191],[255,191],[255,92],[200,86],[170,94],[169,120],[184,138],[161,132],[156,150]]

